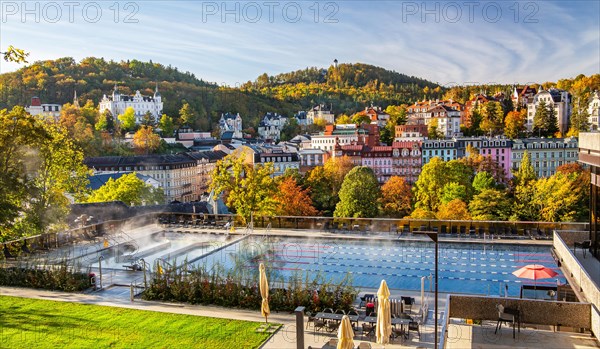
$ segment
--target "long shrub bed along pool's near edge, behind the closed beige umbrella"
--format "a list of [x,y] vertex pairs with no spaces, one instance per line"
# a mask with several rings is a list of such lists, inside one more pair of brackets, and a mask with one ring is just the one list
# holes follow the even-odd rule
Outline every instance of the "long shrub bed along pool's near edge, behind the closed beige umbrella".
[[[351,286],[349,276],[337,284],[324,282],[320,274],[312,280],[303,273],[296,273],[288,280],[274,274],[268,279],[272,311],[291,312],[300,305],[313,312],[324,308],[349,310],[358,294]],[[220,266],[211,270],[206,266],[198,267],[191,271],[163,268],[162,273],[154,274],[142,298],[245,309],[259,309],[261,301],[258,273],[253,278],[240,272],[238,267],[224,270]]]

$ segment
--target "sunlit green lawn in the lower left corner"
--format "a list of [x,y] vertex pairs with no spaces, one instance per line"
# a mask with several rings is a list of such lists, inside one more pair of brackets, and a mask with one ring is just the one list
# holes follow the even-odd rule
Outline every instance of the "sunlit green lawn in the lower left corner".
[[257,348],[257,322],[0,296],[0,348]]

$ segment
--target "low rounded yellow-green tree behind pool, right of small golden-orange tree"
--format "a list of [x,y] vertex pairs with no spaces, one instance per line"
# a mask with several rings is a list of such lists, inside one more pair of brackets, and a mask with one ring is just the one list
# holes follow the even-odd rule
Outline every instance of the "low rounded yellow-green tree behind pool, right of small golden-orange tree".
[[474,220],[505,221],[511,215],[512,202],[504,191],[485,189],[475,195],[469,204]]

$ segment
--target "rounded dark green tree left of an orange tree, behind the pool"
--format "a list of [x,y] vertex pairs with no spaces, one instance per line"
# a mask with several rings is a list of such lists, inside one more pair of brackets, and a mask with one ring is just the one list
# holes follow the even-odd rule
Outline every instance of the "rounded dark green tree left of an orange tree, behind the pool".
[[340,202],[334,217],[376,217],[379,208],[375,204],[380,196],[379,183],[373,170],[366,166],[353,168],[344,178],[340,189]]

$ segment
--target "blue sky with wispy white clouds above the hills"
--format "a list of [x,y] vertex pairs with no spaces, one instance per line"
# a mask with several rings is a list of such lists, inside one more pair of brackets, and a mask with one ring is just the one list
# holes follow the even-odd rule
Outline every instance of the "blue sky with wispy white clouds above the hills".
[[334,59],[442,85],[600,72],[598,0],[74,2],[2,0],[0,49],[152,60],[228,85]]

